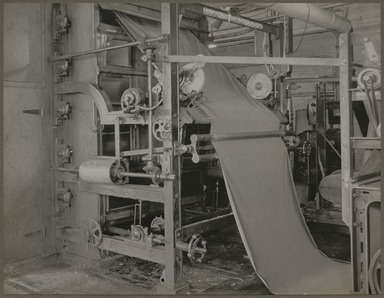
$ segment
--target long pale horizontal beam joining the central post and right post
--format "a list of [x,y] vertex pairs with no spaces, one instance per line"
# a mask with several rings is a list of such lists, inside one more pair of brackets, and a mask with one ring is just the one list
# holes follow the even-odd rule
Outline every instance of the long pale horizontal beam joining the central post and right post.
[[304,65],[304,66],[341,66],[346,60],[337,58],[283,58],[283,57],[233,57],[233,56],[161,56],[164,62],[180,63],[222,63],[222,64],[276,64],[276,65]]

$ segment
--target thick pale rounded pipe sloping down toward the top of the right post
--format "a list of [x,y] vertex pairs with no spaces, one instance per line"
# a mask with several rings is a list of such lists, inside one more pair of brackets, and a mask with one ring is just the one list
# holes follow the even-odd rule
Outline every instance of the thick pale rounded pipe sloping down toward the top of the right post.
[[278,13],[285,14],[291,18],[301,21],[307,21],[310,24],[335,30],[339,33],[351,31],[351,22],[334,12],[322,9],[309,3],[257,3],[257,5],[266,7]]

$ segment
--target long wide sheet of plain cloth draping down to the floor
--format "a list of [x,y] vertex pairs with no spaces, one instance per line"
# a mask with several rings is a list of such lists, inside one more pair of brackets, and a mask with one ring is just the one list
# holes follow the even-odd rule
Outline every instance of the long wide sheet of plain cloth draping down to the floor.
[[[116,13],[135,39],[160,34],[160,24]],[[212,55],[188,31],[179,32],[181,55]],[[204,110],[212,133],[276,131],[279,121],[253,100],[221,64],[204,66]],[[274,294],[347,294],[350,264],[316,247],[298,205],[290,161],[281,138],[214,142],[232,210],[248,256]]]

